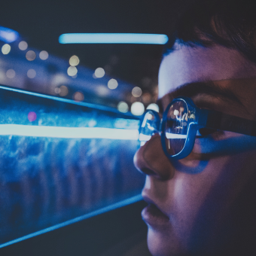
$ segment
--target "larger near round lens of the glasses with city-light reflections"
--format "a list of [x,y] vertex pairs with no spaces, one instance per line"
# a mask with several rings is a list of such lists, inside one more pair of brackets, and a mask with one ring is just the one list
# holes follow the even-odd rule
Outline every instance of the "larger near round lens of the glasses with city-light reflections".
[[173,102],[165,123],[166,149],[170,155],[181,152],[187,139],[187,104],[183,100]]

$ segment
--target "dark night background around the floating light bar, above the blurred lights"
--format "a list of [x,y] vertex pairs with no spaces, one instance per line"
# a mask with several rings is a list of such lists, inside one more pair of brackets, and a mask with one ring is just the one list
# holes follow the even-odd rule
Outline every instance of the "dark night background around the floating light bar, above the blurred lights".
[[14,29],[29,47],[47,50],[81,65],[99,66],[108,75],[154,93],[162,45],[59,44],[59,35],[74,32],[170,34],[175,20],[189,0],[72,0],[5,1],[0,26]]

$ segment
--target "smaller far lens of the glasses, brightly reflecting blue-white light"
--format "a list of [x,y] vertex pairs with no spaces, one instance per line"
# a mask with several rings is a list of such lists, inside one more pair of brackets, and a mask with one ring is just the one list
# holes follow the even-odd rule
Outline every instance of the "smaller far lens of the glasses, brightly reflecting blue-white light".
[[142,120],[142,125],[139,131],[139,140],[141,142],[147,142],[151,139],[151,136],[154,135],[154,133],[157,133],[157,130],[158,124],[156,113],[154,113],[154,111],[148,111]]

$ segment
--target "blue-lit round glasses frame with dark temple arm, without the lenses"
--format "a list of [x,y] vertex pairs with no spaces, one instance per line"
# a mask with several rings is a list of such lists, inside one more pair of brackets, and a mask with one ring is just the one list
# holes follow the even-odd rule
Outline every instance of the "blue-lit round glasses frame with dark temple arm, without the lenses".
[[[188,110],[187,113],[189,113],[190,111],[190,116],[187,117],[187,138],[184,142],[184,147],[178,154],[170,155],[166,148],[165,126],[169,108],[177,101],[185,102]],[[154,132],[158,132],[160,134],[163,151],[166,154],[166,157],[169,158],[169,160],[180,160],[184,157],[187,157],[194,148],[197,131],[202,128],[230,131],[233,133],[240,133],[248,136],[256,136],[256,121],[248,120],[242,117],[236,117],[230,114],[225,114],[220,111],[197,108],[192,99],[184,96],[175,98],[172,100],[172,102],[169,103],[166,110],[163,112],[162,119],[160,119],[157,111],[151,109],[148,109],[148,111],[154,113],[154,117],[156,118],[158,127],[158,130],[155,130]],[[145,111],[145,114],[142,116],[142,122],[148,111]],[[141,130],[142,123],[139,129],[139,133]],[[152,132],[152,135],[154,135],[154,132]]]

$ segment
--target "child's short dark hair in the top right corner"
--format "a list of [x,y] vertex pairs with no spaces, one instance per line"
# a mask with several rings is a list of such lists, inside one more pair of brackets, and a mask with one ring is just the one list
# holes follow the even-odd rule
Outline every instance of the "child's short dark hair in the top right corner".
[[175,41],[190,47],[221,44],[256,62],[256,1],[194,0],[178,19],[164,55]]

